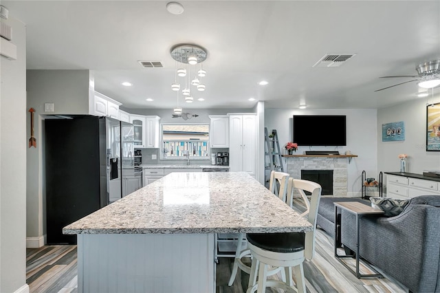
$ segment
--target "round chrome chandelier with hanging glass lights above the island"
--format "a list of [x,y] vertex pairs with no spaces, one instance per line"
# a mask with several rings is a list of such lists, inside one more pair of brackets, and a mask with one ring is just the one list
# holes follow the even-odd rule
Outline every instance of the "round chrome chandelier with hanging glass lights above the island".
[[[197,90],[199,91],[204,91],[206,89],[206,85],[201,82],[201,78],[206,76],[206,70],[203,69],[201,64],[208,57],[206,50],[198,45],[184,44],[175,45],[175,47],[171,49],[170,54],[176,62],[181,64],[180,68],[177,69],[177,76],[187,76],[185,78],[185,88],[182,89],[182,94],[184,96],[190,96],[190,85],[197,87]],[[200,63],[200,69],[198,72],[195,68],[197,63]],[[193,72],[197,72],[197,76],[199,76],[199,78],[195,76],[194,79],[190,80],[192,66],[194,66]],[[186,67],[188,70],[184,69],[184,67]],[[178,91],[179,89],[177,89],[177,86],[175,84],[177,84],[177,79],[175,83],[171,85],[171,88]],[[192,100],[190,102],[192,102]],[[188,100],[186,101],[188,102]]]

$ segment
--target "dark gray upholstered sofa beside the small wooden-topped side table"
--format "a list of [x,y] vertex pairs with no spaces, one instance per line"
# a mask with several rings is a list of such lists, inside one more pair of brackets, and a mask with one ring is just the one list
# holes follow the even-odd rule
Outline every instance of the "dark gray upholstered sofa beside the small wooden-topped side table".
[[[340,217],[341,242],[355,250],[355,216]],[[411,292],[440,292],[440,196],[414,197],[395,217],[362,217],[360,257]]]

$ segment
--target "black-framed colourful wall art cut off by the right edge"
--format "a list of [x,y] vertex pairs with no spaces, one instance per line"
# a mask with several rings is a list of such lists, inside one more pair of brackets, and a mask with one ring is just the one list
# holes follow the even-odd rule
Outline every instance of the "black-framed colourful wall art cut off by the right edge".
[[426,151],[440,151],[440,102],[426,106]]

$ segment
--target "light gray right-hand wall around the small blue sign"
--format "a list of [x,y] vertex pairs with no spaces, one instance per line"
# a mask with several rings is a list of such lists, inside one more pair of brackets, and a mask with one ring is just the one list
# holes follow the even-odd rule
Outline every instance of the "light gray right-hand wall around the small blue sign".
[[[418,98],[377,111],[377,156],[378,168],[382,171],[399,172],[399,153],[408,155],[410,173],[423,170],[440,171],[440,151],[426,151],[426,102],[440,102],[440,95]],[[404,121],[405,140],[382,142],[382,124]]]

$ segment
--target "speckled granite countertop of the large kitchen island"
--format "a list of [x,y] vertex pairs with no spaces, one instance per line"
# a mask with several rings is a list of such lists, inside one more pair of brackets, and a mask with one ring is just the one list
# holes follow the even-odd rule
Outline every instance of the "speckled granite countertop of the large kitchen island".
[[245,172],[171,173],[64,234],[304,232],[305,218]]

